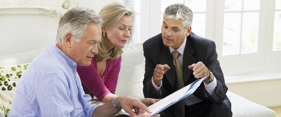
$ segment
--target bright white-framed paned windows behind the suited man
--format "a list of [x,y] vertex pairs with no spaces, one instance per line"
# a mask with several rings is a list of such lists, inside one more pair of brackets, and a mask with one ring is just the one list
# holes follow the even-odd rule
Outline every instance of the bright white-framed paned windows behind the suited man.
[[281,0],[141,0],[139,42],[161,32],[174,3],[193,11],[192,32],[216,43],[225,76],[280,70]]

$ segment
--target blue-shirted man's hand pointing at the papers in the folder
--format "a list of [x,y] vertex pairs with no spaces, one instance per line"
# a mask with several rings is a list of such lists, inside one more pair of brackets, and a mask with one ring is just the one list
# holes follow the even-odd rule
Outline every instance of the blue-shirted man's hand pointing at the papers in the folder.
[[[130,116],[137,116],[146,112],[152,113],[138,98],[119,96],[114,99],[117,106],[122,107]],[[132,110],[134,109],[135,112]]]

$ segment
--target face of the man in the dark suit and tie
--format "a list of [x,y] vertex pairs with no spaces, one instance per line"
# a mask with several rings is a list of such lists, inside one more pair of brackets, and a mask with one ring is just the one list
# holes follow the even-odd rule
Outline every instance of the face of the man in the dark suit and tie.
[[182,25],[184,20],[172,20],[168,18],[163,18],[162,23],[162,39],[165,46],[172,47],[173,49],[178,49],[181,44],[184,43],[187,30]]

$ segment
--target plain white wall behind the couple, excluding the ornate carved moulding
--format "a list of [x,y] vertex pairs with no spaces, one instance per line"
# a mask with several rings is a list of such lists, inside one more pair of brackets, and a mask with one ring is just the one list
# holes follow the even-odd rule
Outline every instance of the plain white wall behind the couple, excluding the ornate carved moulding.
[[[98,13],[103,6],[127,0],[77,0],[78,6]],[[0,9],[1,10],[1,9]],[[55,43],[59,17],[35,14],[0,14],[0,56],[28,52]]]

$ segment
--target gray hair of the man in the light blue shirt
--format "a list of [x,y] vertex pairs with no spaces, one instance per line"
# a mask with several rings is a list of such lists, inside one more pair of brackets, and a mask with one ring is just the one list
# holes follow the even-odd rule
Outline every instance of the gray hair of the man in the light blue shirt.
[[90,23],[102,25],[102,19],[97,13],[89,8],[77,7],[68,10],[59,20],[59,27],[56,33],[56,42],[64,42],[66,33],[72,33],[74,40],[80,42],[85,35],[85,30]]

